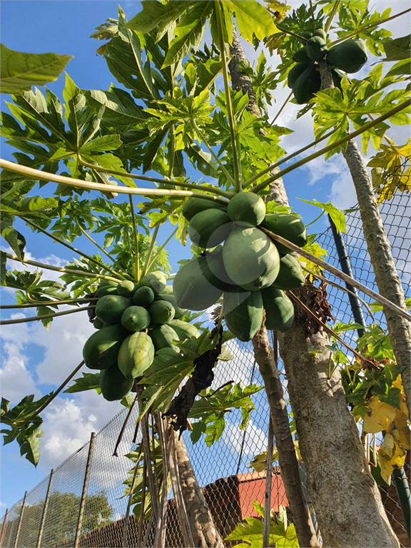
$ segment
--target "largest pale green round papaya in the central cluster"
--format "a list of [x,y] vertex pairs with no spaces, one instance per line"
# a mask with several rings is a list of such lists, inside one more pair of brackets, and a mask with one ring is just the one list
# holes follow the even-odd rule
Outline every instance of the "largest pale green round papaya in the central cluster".
[[223,263],[240,288],[268,288],[280,270],[280,257],[273,242],[258,228],[235,228],[223,245]]

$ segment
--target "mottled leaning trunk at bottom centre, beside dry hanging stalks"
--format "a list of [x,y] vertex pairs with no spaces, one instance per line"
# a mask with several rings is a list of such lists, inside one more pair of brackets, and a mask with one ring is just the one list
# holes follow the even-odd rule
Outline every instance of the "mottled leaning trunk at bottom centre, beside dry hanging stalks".
[[191,466],[190,458],[183,440],[176,436],[176,452],[178,476],[180,477],[181,491],[190,522],[194,546],[200,548],[223,548],[223,539],[215,527],[203,492],[196,480],[196,474]]

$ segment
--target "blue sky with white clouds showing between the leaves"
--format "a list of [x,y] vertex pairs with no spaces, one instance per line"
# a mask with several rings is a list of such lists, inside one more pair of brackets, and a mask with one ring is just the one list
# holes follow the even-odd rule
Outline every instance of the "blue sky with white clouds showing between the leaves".
[[[288,4],[298,6],[300,1],[288,1]],[[382,1],[372,4],[376,5],[379,11],[385,6],[385,2]],[[402,11],[404,4],[401,0],[392,1],[390,5],[393,13]],[[121,7],[128,19],[140,9],[137,1],[122,2]],[[2,0],[1,42],[17,51],[53,51],[72,55],[74,59],[69,62],[66,70],[78,87],[108,89],[114,78],[108,71],[104,59],[96,55],[96,49],[102,43],[90,39],[89,36],[96,26],[108,17],[116,19],[117,13],[118,3],[111,0]],[[391,29],[395,36],[406,34],[409,23],[409,19],[402,18],[392,25]],[[257,54],[248,44],[245,44],[245,50],[250,61],[256,59]],[[366,71],[367,67],[362,70]],[[60,98],[63,87],[64,76],[49,84],[49,88]],[[271,116],[276,113],[287,95],[288,88],[278,92],[277,103],[270,108]],[[2,96],[2,110],[8,111],[4,101],[9,100],[8,96]],[[290,105],[277,121],[278,124],[295,130],[295,133],[287,136],[284,141],[288,152],[298,150],[313,140],[310,116],[305,116],[303,120],[295,123],[295,113],[295,106]],[[405,136],[405,130],[399,128],[392,136],[397,143],[402,143],[405,141],[405,138],[402,138]],[[1,156],[13,159],[11,148],[3,145]],[[305,223],[313,220],[319,211],[298,201],[298,198],[317,198],[324,202],[331,200],[340,208],[348,208],[355,204],[355,192],[350,176],[342,159],[337,156],[328,163],[319,158],[310,166],[293,171],[286,176],[285,187],[290,204],[303,215]],[[313,232],[325,230],[325,219],[320,220],[312,228]],[[24,227],[21,230],[27,236],[28,257],[56,265],[63,265],[65,260],[73,258],[72,253],[66,248],[57,244],[51,246],[51,240],[46,236],[36,235],[36,238],[31,238],[28,228]],[[160,242],[166,239],[167,230],[168,228],[161,229]],[[76,245],[78,246],[77,243]],[[91,250],[91,244],[86,240],[81,242],[81,248],[87,253]],[[178,242],[168,246],[168,251],[175,268],[177,260],[188,258],[190,254],[189,248],[183,248]],[[13,302],[13,297],[7,290],[2,289],[1,296],[4,304]],[[77,315],[54,320],[49,332],[37,323],[7,326],[4,329],[4,345],[1,350],[1,395],[15,404],[27,393],[35,393],[36,397],[39,397],[54,390],[66,374],[81,361],[81,347],[92,332],[93,328],[87,319],[78,320]],[[44,413],[43,453],[37,469],[20,457],[16,444],[6,445],[2,450],[0,514],[5,507],[11,507],[26,489],[34,487],[49,473],[51,467],[59,465],[71,452],[83,445],[88,440],[91,430],[99,430],[118,412],[118,409],[118,403],[105,402],[94,392],[70,398],[66,395],[57,398],[54,407]]]

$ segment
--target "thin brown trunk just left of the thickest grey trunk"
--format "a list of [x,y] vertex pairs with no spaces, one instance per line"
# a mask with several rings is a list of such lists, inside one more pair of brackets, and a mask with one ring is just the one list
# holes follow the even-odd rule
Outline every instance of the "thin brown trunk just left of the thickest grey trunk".
[[254,357],[263,377],[265,392],[267,393],[270,416],[273,422],[275,446],[278,450],[281,479],[285,487],[285,494],[290,504],[293,523],[297,532],[298,542],[302,547],[317,547],[318,538],[315,534],[310,510],[305,502],[303,484],[300,480],[298,460],[295,456],[293,437],[288,422],[288,412],[285,404],[283,386],[281,385],[273,350],[270,347],[267,330],[263,325],[253,337]]

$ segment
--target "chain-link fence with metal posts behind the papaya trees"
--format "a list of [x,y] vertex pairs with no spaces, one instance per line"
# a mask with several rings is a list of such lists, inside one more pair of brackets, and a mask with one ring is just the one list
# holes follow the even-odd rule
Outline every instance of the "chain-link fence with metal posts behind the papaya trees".
[[[382,204],[380,210],[397,270],[409,297],[411,266],[407,263],[407,256],[411,248],[411,198],[404,194],[395,196],[390,202]],[[347,215],[347,234],[344,239],[355,279],[377,290],[362,238],[358,211]],[[328,250],[328,262],[338,267],[338,255],[331,229],[325,230],[316,241]],[[327,273],[327,276],[339,283],[332,275]],[[350,303],[344,291],[329,285],[328,300],[336,321],[352,321]],[[367,298],[365,300],[370,302]],[[365,308],[363,313],[367,324],[377,320],[385,328],[381,313],[375,313],[375,318]],[[353,331],[347,331],[344,337],[352,344],[356,335]],[[241,382],[243,387],[250,383],[263,385],[258,368],[255,367],[252,344],[235,340],[229,342],[229,347],[233,360],[220,362],[215,368],[213,387],[219,387],[228,381]],[[279,367],[286,392],[281,362]],[[256,392],[251,399],[255,410],[246,430],[240,430],[240,410],[233,410],[225,415],[225,429],[219,442],[210,447],[205,445],[203,439],[192,445],[190,432],[183,434],[198,483],[203,486],[210,512],[223,537],[233,531],[244,517],[258,517],[253,502],[264,504],[265,500],[265,472],[253,472],[249,463],[256,454],[266,450],[269,410],[264,390]],[[2,547],[123,546],[123,517],[128,502],[128,497],[123,497],[123,482],[133,468],[133,462],[123,455],[134,450],[141,441],[140,432],[137,436],[135,432],[138,411],[133,410],[117,450],[119,456],[113,456],[127,413],[128,410],[123,409],[93,437],[92,450],[91,442],[83,445],[6,512],[1,520]],[[409,472],[409,465],[406,465],[406,470]],[[304,484],[303,469],[301,472]],[[390,489],[381,491],[392,527],[402,546],[407,546],[404,519],[395,487],[392,484]],[[280,504],[288,507],[283,482],[278,467],[275,467],[272,487],[274,511],[278,510]],[[79,519],[81,513],[82,519]],[[166,546],[183,546],[176,506],[171,498],[168,500],[167,517]],[[131,514],[128,522],[128,546],[137,545],[137,535],[137,522]],[[149,531],[147,536],[146,545],[152,546],[153,531]]]

